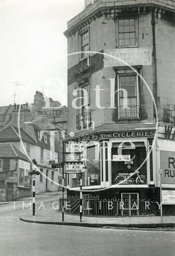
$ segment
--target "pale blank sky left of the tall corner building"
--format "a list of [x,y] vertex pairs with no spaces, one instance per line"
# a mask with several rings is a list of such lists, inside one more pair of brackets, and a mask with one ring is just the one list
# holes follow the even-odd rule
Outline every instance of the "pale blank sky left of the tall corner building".
[[67,105],[63,32],[83,9],[84,0],[0,0],[0,106],[14,104],[15,89],[16,104],[33,103],[37,90]]

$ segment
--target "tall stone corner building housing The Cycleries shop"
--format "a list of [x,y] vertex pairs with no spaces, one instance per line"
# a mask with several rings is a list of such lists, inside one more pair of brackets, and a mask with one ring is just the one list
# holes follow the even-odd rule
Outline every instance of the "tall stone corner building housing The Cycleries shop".
[[[86,0],[64,33],[68,54],[79,52],[68,56],[68,134],[75,135],[66,140],[87,143],[83,195],[126,200],[126,215],[134,200],[150,200],[159,213],[160,168],[163,190],[175,190],[174,14],[171,0]],[[98,159],[93,141],[101,143]],[[135,170],[134,182],[119,182]],[[78,196],[79,180],[69,174],[68,196]]]

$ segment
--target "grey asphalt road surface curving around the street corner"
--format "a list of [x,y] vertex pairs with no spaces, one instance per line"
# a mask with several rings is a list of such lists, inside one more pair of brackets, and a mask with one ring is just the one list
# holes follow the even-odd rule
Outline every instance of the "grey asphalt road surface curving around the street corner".
[[[58,196],[44,196],[51,207]],[[28,200],[24,201],[27,205]],[[36,206],[37,208],[37,206]],[[175,232],[45,225],[20,221],[22,202],[0,205],[1,256],[174,256]]]

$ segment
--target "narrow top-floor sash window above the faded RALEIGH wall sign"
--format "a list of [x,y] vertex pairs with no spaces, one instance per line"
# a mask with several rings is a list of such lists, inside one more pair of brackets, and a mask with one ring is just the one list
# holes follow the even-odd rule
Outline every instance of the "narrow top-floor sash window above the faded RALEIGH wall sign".
[[90,50],[89,48],[89,30],[83,31],[80,36],[80,44],[81,44],[81,59],[87,58],[88,57],[88,52]]

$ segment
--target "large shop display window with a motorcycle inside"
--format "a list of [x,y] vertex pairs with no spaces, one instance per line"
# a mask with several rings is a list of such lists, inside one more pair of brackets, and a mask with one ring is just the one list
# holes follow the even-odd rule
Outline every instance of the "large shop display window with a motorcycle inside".
[[[146,185],[147,184],[147,161],[137,170],[146,159],[146,148],[144,142],[134,142],[134,147],[131,148],[130,143],[124,143],[122,146],[122,156],[129,159],[121,159],[118,154],[120,143],[112,145],[112,184],[120,185]],[[119,157],[117,158],[117,155]]]

